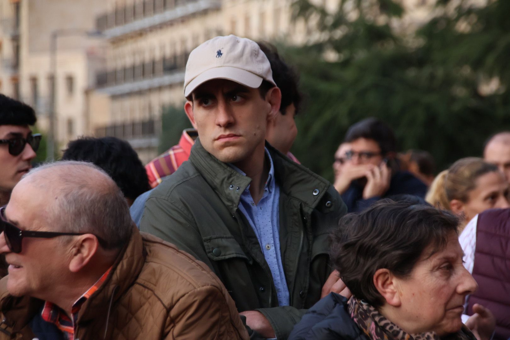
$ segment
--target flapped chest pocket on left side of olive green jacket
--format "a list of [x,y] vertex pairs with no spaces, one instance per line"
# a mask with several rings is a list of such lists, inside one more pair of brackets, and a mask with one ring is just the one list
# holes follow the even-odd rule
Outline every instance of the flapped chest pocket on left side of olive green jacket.
[[205,237],[203,245],[206,248],[207,256],[213,261],[241,258],[251,264],[251,256],[246,256],[239,243],[231,235]]

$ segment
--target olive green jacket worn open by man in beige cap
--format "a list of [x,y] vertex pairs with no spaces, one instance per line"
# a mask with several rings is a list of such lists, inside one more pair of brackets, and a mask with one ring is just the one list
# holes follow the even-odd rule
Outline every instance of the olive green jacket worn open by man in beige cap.
[[205,262],[239,311],[259,310],[276,337],[285,339],[306,312],[303,308],[320,299],[331,272],[327,236],[347,209],[327,180],[266,147],[280,188],[279,241],[290,306],[278,306],[257,236],[238,208],[251,179],[217,160],[198,139],[189,160],[152,191],[140,230]]

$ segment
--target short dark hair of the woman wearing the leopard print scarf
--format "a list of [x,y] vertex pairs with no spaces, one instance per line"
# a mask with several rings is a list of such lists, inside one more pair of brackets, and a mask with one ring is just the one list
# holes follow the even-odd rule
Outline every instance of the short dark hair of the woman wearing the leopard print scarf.
[[431,256],[457,233],[458,219],[435,207],[381,200],[360,214],[347,214],[330,234],[330,256],[352,295],[374,307],[384,304],[373,283],[378,269],[408,277],[424,252]]

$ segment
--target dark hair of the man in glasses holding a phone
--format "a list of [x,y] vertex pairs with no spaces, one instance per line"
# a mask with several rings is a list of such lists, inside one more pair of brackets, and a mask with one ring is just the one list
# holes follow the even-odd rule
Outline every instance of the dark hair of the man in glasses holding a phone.
[[350,143],[359,138],[372,139],[380,147],[382,155],[397,151],[397,139],[393,129],[377,118],[366,118],[351,125],[345,134],[344,142]]

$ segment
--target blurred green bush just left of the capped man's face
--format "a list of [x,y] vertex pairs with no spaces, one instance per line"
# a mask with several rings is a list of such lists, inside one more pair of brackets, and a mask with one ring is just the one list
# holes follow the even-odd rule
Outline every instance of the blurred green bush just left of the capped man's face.
[[191,123],[183,108],[165,107],[161,114],[161,136],[158,153],[163,153],[179,143],[183,130],[190,128]]

